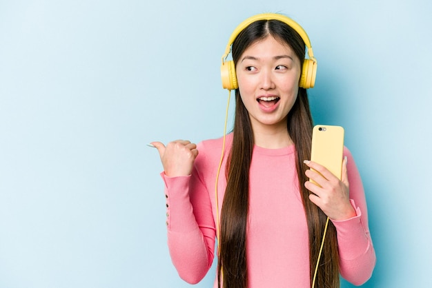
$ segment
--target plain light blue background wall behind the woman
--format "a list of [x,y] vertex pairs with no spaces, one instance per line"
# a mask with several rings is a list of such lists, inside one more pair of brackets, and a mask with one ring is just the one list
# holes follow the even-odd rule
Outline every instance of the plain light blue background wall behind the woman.
[[0,0],[0,287],[190,287],[145,144],[222,136],[221,56],[261,12],[308,32],[315,122],[345,127],[377,253],[363,287],[431,287],[431,3]]

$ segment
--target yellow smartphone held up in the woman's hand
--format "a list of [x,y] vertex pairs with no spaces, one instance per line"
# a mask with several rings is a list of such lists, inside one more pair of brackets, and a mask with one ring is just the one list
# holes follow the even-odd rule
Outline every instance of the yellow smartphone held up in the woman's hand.
[[313,127],[311,161],[323,165],[341,179],[343,153],[343,127],[333,125],[315,125]]

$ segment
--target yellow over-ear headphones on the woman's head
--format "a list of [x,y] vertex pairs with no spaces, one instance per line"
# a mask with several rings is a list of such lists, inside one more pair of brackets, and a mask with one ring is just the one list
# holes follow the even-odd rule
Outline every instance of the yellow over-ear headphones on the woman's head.
[[222,56],[222,66],[221,66],[221,77],[222,77],[222,87],[228,90],[235,90],[239,88],[237,83],[237,76],[235,75],[235,65],[234,61],[226,61],[228,54],[231,51],[231,45],[233,44],[235,38],[237,38],[238,34],[242,32],[248,25],[255,21],[259,20],[279,20],[286,25],[293,28],[300,37],[302,37],[306,47],[308,48],[308,56],[309,59],[304,59],[302,75],[300,76],[299,86],[301,88],[313,88],[315,85],[315,76],[317,74],[317,60],[313,56],[311,41],[309,40],[308,34],[303,30],[302,26],[296,23],[293,19],[290,19],[282,14],[275,13],[264,13],[257,14],[251,18],[246,19],[242,23],[240,23],[237,28],[235,28],[233,34],[228,41],[228,45],[226,45],[225,54]]

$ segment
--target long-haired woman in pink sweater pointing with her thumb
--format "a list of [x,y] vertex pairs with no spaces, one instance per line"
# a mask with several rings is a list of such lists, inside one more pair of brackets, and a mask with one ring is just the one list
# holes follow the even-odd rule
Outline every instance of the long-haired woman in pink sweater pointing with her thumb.
[[339,287],[340,274],[355,285],[371,276],[375,251],[351,153],[344,148],[341,181],[305,161],[313,128],[305,88],[313,83],[303,83],[310,60],[297,25],[262,14],[233,34],[228,89],[235,89],[236,107],[226,138],[151,143],[164,166],[168,247],[187,282],[206,275],[216,235],[215,287]]

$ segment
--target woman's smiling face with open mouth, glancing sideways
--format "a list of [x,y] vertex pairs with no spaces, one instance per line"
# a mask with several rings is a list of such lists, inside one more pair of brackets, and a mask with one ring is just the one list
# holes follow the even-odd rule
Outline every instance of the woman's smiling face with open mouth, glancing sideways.
[[297,99],[300,59],[286,43],[269,36],[249,46],[235,71],[253,130],[284,127]]

